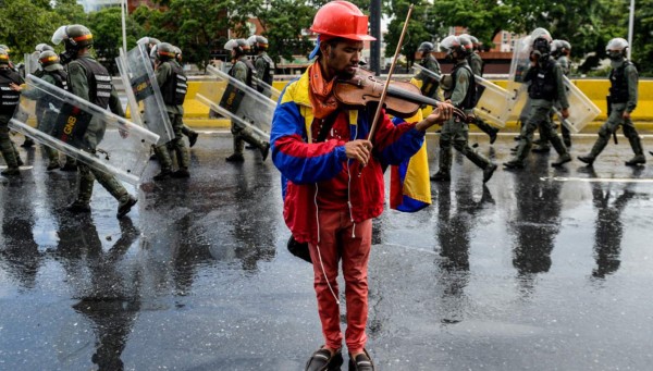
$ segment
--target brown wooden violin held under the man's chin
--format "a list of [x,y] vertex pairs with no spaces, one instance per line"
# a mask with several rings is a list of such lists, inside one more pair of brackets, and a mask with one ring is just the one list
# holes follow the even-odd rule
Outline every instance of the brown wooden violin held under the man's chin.
[[[356,69],[354,77],[337,81],[334,96],[341,103],[349,108],[365,107],[369,102],[379,102],[385,82],[378,81],[370,71]],[[420,109],[421,104],[438,107],[435,99],[422,96],[421,90],[407,82],[390,82],[384,101],[385,110],[394,116],[407,119]],[[473,116],[468,116],[463,110],[454,107],[454,116],[471,123]]]

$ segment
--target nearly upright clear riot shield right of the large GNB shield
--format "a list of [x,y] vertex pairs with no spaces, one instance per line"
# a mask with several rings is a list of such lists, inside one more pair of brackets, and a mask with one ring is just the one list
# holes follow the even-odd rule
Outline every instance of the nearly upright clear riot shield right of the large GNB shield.
[[125,86],[132,120],[157,134],[158,145],[172,140],[172,123],[146,47],[140,45],[126,53],[121,48],[115,62]]

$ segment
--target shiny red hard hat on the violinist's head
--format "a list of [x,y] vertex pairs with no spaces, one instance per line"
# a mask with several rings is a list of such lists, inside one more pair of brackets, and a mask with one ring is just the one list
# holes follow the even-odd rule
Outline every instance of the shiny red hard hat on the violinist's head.
[[348,1],[331,1],[324,4],[313,18],[310,30],[349,40],[375,40],[368,35],[368,16]]

